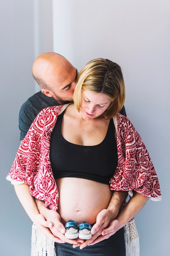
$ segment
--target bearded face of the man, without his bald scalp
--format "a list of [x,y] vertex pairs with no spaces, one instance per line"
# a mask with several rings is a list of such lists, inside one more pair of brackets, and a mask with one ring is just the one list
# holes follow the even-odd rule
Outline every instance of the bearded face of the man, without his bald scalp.
[[52,76],[48,81],[49,88],[53,93],[53,98],[60,104],[67,101],[73,101],[73,93],[75,85],[77,84],[77,69],[71,67],[71,70],[64,70],[63,74],[59,77]]

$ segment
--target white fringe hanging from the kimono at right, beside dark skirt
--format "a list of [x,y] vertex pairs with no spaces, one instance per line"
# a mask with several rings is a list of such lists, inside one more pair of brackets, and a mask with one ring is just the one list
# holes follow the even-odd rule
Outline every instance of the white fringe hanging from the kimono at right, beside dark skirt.
[[126,256],[139,256],[139,235],[135,220],[131,220],[124,226]]

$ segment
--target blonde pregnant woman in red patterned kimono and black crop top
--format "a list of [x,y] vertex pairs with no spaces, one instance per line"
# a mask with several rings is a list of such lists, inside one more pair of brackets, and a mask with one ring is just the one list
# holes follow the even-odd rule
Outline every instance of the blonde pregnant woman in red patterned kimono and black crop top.
[[[7,179],[30,218],[39,214],[33,197],[44,200],[66,225],[66,238],[79,236],[55,243],[57,256],[125,256],[124,225],[148,198],[160,200],[148,151],[129,119],[119,114],[124,99],[119,65],[94,59],[78,75],[74,103],[42,110],[18,149]],[[99,214],[112,216],[114,190],[133,191],[116,218],[117,232],[86,246],[82,234],[91,237]]]

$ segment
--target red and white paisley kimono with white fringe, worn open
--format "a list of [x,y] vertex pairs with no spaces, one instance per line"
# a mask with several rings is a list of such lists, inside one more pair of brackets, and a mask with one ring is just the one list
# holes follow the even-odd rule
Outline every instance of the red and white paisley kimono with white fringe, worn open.
[[[31,195],[45,201],[46,207],[56,211],[59,195],[51,170],[50,138],[57,116],[67,106],[68,104],[45,108],[38,114],[22,141],[7,176],[7,180],[12,184],[28,184]],[[117,114],[113,121],[117,131],[118,164],[110,179],[110,189],[129,191],[129,194],[134,190],[151,200],[161,200],[157,174],[139,133],[127,117]],[[47,249],[54,248],[54,242],[38,232],[40,231],[33,225],[31,255],[39,255],[42,252],[55,255],[53,249]],[[134,220],[124,226],[124,234],[126,256],[139,256],[139,236]],[[36,245],[40,244],[37,240],[39,238],[45,249],[36,248]]]

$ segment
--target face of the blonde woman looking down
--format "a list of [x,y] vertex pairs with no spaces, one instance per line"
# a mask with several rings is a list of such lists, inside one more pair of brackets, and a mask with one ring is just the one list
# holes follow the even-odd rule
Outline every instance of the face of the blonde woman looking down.
[[99,117],[110,105],[110,99],[103,93],[93,93],[82,90],[81,104],[79,113],[85,120]]

